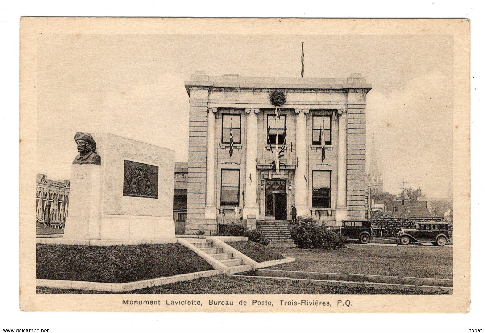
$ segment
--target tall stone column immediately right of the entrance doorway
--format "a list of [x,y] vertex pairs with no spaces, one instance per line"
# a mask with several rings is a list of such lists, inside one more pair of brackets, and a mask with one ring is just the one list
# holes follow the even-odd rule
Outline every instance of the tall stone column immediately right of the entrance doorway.
[[295,207],[297,216],[310,216],[308,209],[308,177],[307,176],[307,114],[309,110],[296,109],[296,158],[295,168]]

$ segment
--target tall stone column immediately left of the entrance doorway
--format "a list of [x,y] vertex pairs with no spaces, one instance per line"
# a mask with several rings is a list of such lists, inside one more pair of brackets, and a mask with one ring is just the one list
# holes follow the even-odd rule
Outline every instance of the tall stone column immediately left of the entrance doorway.
[[[258,153],[258,119],[256,115],[259,109],[246,109],[246,180],[244,207],[242,218],[259,218],[258,198],[258,174],[256,157]],[[255,216],[255,217],[253,217]]]

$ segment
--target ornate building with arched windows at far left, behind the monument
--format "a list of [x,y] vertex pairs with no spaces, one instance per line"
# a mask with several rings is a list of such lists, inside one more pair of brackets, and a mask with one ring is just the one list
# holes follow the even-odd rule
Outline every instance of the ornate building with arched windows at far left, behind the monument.
[[37,222],[64,228],[69,210],[70,181],[53,181],[43,173],[37,174]]

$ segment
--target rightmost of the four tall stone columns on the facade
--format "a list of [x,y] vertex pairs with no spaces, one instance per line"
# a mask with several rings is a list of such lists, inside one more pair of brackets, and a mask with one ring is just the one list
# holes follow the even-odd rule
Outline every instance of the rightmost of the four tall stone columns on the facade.
[[339,110],[339,152],[337,163],[337,221],[347,218],[347,112]]

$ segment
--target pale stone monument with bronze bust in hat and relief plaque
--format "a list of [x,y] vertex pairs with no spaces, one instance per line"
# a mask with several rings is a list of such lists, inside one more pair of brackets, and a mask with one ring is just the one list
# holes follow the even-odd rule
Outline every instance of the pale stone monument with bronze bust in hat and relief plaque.
[[62,243],[174,243],[173,150],[108,133],[74,136]]

